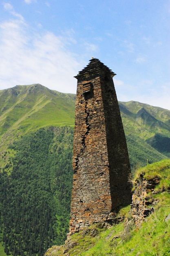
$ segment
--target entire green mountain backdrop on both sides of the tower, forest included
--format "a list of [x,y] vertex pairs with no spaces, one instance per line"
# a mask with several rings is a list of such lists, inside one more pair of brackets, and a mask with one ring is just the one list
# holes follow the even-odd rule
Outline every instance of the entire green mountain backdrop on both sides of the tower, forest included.
[[[132,170],[170,156],[170,111],[119,102]],[[0,239],[13,256],[64,243],[75,94],[40,84],[0,91]]]

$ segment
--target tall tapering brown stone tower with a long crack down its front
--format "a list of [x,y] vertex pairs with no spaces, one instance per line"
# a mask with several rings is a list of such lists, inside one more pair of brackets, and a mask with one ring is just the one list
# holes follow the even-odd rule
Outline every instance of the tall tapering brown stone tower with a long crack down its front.
[[110,212],[131,202],[130,163],[114,75],[92,58],[75,76],[70,234],[106,221]]

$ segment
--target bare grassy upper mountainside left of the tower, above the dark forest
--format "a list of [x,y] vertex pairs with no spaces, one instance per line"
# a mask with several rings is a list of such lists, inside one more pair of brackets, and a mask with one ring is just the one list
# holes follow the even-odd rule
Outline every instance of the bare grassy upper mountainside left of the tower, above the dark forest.
[[[74,126],[75,95],[40,85],[16,85],[0,91],[0,134],[45,126]],[[47,119],[48,117],[48,119]]]

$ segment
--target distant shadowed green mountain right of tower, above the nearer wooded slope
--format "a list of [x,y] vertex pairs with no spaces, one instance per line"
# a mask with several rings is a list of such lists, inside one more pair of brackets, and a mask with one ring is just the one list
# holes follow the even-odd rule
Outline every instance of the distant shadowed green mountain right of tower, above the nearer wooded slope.
[[126,135],[137,135],[170,157],[170,110],[137,101],[119,102]]

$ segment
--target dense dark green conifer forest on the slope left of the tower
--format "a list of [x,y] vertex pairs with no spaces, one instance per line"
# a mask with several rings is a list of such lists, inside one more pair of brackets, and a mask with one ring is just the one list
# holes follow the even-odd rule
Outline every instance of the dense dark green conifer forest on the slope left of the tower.
[[[68,232],[73,128],[40,128],[15,140],[0,173],[0,233],[5,252],[42,256]],[[4,156],[5,157],[5,156]]]

